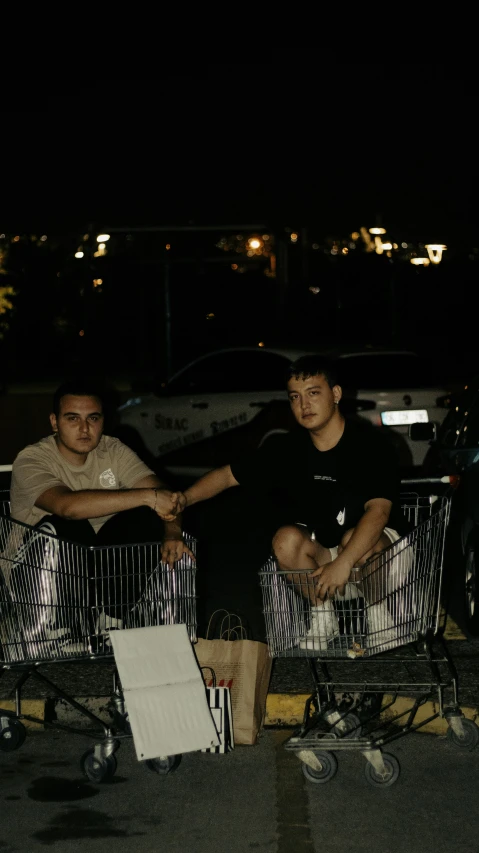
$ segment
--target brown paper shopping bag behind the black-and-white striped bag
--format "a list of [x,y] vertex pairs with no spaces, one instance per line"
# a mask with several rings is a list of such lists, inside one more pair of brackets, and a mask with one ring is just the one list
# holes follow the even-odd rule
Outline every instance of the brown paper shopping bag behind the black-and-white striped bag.
[[218,687],[229,687],[236,744],[253,745],[264,723],[272,658],[266,643],[248,639],[202,639],[194,651],[200,667],[211,667]]

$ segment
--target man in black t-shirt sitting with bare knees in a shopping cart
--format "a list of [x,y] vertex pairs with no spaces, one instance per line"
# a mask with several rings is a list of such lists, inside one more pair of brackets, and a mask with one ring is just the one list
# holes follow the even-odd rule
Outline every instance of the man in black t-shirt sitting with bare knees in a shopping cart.
[[[404,532],[398,464],[377,429],[341,414],[333,363],[320,356],[298,359],[290,366],[287,389],[304,429],[210,471],[184,492],[180,506],[239,484],[275,495],[285,523],[273,537],[273,551],[282,571],[310,573],[301,592],[311,600],[311,625],[301,645],[320,648],[339,632],[331,596],[354,594],[349,581],[355,570]],[[373,631],[391,622],[385,605],[377,606],[383,610],[375,614],[370,607],[368,613]]]

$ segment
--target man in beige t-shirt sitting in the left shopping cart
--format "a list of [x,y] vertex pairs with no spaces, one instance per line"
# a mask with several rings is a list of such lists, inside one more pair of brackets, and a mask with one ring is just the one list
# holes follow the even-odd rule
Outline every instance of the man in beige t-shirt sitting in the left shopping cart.
[[[82,381],[60,386],[50,423],[53,435],[24,448],[13,463],[12,518],[84,545],[161,542],[170,567],[184,554],[194,557],[175,518],[178,495],[130,448],[103,435],[95,388]],[[141,573],[128,574],[127,584],[112,577],[102,590],[112,616],[124,616],[125,598],[131,605],[141,594]]]

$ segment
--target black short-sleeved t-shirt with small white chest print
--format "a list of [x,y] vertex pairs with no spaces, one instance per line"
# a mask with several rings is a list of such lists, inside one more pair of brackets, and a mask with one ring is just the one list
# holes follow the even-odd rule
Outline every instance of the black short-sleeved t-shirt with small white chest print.
[[340,440],[326,451],[317,450],[307,430],[274,436],[231,470],[240,485],[273,497],[281,524],[306,524],[326,548],[356,526],[372,498],[391,501],[387,526],[407,532],[395,451],[367,422],[346,420]]

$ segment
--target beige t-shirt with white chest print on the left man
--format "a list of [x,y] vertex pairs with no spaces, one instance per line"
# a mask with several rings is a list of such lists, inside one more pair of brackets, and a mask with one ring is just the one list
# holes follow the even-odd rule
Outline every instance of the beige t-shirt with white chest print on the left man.
[[[32,526],[47,513],[35,501],[47,489],[67,486],[82,489],[132,489],[143,477],[154,474],[133,450],[118,438],[103,435],[82,466],[71,465],[58,450],[53,435],[20,451],[12,466],[10,513],[12,518]],[[90,518],[95,533],[112,518]]]

